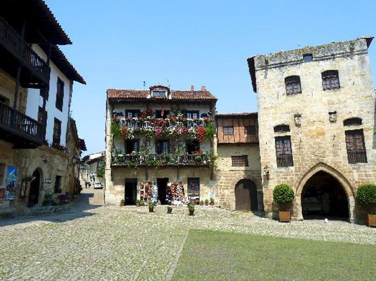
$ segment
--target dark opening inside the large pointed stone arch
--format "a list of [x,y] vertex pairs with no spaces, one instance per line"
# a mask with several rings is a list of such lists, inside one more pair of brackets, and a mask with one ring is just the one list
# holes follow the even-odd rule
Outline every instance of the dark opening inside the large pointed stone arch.
[[318,171],[302,190],[304,219],[349,220],[349,201],[341,183],[331,174]]

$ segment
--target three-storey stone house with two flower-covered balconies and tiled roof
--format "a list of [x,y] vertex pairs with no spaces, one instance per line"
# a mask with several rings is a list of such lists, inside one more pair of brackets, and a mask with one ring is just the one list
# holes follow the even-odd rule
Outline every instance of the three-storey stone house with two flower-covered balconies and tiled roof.
[[217,99],[200,90],[107,90],[105,203],[215,197]]

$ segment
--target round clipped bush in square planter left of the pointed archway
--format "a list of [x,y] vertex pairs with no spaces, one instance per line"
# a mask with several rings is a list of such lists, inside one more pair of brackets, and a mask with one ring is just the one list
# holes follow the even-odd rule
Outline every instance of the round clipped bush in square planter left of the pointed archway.
[[291,221],[290,206],[294,197],[295,194],[290,185],[281,183],[274,187],[273,200],[279,204],[279,221]]

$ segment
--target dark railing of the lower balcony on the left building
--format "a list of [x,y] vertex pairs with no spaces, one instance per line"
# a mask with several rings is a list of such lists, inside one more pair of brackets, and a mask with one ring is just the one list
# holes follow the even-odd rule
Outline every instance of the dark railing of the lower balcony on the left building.
[[0,126],[30,141],[42,142],[42,124],[0,102]]

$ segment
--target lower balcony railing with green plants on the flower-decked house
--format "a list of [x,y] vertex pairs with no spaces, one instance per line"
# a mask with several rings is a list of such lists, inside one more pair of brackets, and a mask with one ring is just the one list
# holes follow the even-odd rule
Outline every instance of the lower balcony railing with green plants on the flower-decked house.
[[117,154],[112,155],[112,165],[126,165],[128,167],[149,166],[209,166],[207,154],[187,154],[176,155],[173,153],[162,154]]

